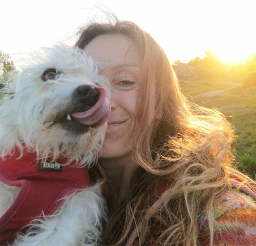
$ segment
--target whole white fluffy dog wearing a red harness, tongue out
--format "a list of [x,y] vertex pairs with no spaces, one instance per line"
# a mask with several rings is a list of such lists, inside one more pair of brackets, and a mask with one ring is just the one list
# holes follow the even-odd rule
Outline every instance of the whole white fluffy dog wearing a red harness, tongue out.
[[46,48],[8,76],[0,106],[1,245],[93,245],[106,219],[87,167],[110,114],[109,82],[78,48]]

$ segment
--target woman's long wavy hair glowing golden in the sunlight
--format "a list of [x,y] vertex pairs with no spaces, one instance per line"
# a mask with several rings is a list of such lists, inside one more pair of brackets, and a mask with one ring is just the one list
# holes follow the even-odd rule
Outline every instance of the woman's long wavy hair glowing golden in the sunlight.
[[[212,244],[213,204],[228,185],[225,166],[230,166],[233,158],[230,124],[220,112],[188,102],[162,48],[135,23],[113,16],[109,22],[89,23],[81,29],[76,46],[84,48],[95,37],[106,34],[121,34],[134,40],[143,59],[143,74],[137,102],[138,169],[125,198],[113,198],[109,195],[111,188],[105,188],[110,209],[105,245],[125,244],[134,223],[143,224],[134,245],[148,244],[151,232],[159,228],[155,243],[197,245],[197,222],[202,211],[208,214]],[[158,114],[150,124],[153,83],[157,85]],[[145,218],[151,209],[149,198],[154,199],[161,189],[165,193],[159,207]]]

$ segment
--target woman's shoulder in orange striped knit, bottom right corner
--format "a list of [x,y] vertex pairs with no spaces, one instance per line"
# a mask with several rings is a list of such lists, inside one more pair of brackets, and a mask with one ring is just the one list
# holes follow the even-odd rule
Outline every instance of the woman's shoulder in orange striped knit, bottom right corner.
[[[227,188],[214,203],[214,245],[256,245],[256,202],[238,190]],[[199,221],[200,245],[210,240],[207,214]]]

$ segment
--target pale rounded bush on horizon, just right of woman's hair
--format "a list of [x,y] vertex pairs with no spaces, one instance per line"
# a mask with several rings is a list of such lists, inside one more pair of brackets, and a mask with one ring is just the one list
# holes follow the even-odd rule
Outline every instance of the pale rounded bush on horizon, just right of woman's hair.
[[197,74],[193,66],[183,63],[179,60],[174,61],[172,64],[174,71],[179,80],[196,80]]

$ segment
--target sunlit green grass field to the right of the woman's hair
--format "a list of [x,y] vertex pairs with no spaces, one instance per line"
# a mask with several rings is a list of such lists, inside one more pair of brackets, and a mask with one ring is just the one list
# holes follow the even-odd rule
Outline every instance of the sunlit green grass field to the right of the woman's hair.
[[[218,81],[181,81],[181,90],[188,100],[207,107],[219,109],[231,123],[236,139],[232,144],[239,170],[256,180],[256,88],[231,88],[229,83],[242,84],[245,78]],[[210,96],[200,93],[225,90]]]

